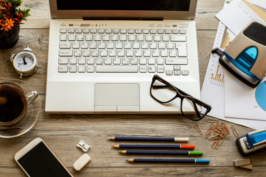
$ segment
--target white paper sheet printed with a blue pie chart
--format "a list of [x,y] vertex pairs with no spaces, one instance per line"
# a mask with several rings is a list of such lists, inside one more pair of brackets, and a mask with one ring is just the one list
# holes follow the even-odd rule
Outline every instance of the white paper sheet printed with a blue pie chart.
[[225,76],[225,116],[266,120],[266,78],[258,87],[251,88],[228,71]]

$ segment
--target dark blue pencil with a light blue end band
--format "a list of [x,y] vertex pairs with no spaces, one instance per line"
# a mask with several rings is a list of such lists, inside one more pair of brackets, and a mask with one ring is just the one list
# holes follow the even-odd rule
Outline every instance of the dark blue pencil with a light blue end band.
[[129,162],[210,163],[209,159],[128,159]]

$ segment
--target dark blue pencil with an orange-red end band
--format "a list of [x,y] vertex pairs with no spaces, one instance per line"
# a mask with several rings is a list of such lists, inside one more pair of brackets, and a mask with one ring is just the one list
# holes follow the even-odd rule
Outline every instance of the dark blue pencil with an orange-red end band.
[[119,144],[114,148],[169,148],[169,149],[194,149],[195,145],[144,145],[144,144]]

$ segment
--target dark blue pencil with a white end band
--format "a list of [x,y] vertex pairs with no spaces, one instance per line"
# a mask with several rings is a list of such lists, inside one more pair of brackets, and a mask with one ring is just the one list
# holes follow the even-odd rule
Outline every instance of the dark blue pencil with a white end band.
[[110,137],[112,140],[130,140],[130,141],[181,141],[188,142],[189,138],[157,138],[157,137]]

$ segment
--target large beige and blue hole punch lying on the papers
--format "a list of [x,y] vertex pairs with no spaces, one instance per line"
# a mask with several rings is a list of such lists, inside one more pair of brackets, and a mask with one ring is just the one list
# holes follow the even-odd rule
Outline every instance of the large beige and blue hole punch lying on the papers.
[[257,87],[266,73],[266,24],[250,22],[224,51],[216,48],[220,64],[250,87]]

